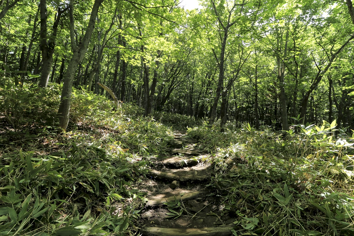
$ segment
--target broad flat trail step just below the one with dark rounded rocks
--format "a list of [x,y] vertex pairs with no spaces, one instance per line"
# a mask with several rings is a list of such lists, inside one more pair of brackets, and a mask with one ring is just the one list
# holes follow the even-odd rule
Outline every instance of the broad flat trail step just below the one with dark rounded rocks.
[[149,174],[160,179],[170,179],[178,181],[202,181],[210,177],[210,175],[204,175],[201,171],[194,169],[169,169],[166,171],[150,170]]

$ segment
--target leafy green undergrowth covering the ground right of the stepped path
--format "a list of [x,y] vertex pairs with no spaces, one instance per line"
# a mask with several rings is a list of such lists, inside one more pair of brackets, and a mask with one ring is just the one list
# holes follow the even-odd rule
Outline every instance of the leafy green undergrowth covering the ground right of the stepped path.
[[215,145],[210,186],[236,219],[234,235],[353,235],[353,143],[335,127],[299,125],[284,139],[248,124],[188,130]]

